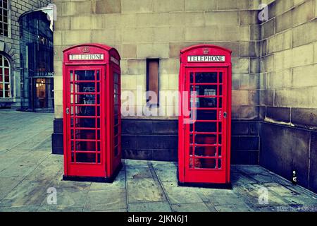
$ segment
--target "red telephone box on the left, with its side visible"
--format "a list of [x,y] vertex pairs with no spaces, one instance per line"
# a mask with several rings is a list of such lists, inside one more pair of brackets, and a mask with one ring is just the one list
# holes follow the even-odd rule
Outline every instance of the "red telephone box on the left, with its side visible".
[[103,44],[63,51],[63,179],[112,182],[122,167],[120,56]]

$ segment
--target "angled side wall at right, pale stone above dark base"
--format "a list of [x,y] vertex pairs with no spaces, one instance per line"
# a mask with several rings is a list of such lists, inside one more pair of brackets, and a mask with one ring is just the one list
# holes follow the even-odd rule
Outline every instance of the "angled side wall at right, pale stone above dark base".
[[317,1],[273,1],[262,25],[260,164],[317,191]]

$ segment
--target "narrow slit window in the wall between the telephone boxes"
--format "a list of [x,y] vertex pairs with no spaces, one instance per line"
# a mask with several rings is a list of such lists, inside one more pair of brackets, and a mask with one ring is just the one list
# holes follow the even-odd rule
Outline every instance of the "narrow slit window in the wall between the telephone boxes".
[[148,105],[159,105],[159,59],[147,59],[147,91]]

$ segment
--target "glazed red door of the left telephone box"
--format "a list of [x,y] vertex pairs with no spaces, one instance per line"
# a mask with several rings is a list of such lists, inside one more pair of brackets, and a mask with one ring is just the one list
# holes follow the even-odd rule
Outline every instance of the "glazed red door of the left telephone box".
[[68,176],[106,177],[104,151],[104,66],[67,66],[66,145]]

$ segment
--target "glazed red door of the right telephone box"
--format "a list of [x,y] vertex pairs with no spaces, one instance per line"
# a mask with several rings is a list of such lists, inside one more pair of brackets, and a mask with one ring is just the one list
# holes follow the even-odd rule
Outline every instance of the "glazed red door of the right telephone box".
[[194,112],[185,124],[185,182],[225,184],[228,68],[185,68],[185,76]]

